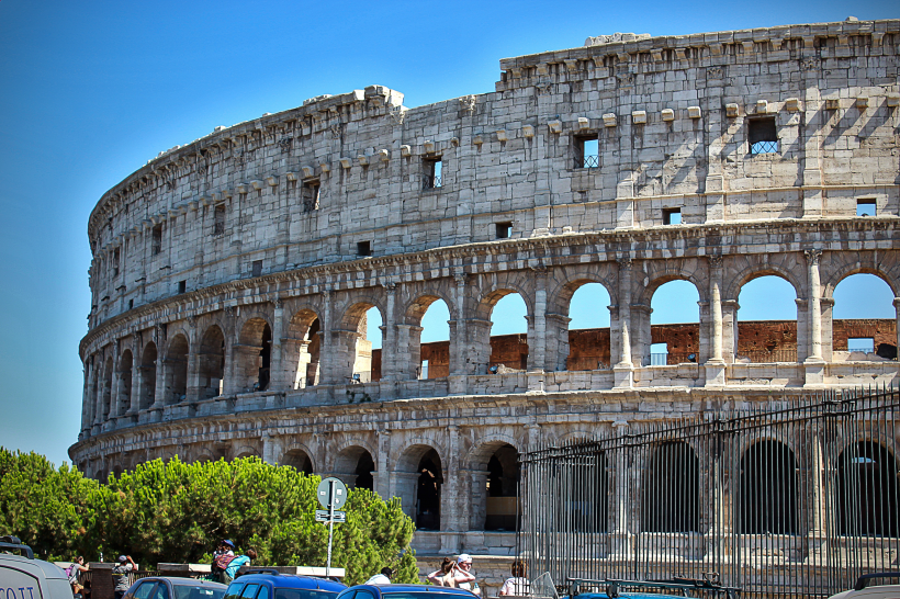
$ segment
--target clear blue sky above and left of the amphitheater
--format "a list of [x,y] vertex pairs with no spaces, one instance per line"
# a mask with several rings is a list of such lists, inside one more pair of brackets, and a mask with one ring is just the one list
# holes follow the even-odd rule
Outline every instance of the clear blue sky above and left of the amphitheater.
[[417,106],[494,89],[503,57],[614,32],[897,18],[896,1],[0,0],[0,444],[67,460],[90,308],[87,222],[159,151],[378,83]]

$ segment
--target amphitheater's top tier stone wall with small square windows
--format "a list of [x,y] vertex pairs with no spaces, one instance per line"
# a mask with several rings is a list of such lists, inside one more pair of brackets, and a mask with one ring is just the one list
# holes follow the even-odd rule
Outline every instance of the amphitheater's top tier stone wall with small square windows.
[[[898,215],[900,21],[656,37],[505,59],[494,93],[373,86],[165,152],[91,214],[89,327],[184,291],[511,237]],[[774,118],[775,152],[750,150]],[[596,137],[593,168],[576,168]],[[424,189],[429,160],[440,187]],[[581,165],[584,166],[584,165]],[[317,188],[316,188],[317,185]],[[312,199],[318,190],[318,203]]]

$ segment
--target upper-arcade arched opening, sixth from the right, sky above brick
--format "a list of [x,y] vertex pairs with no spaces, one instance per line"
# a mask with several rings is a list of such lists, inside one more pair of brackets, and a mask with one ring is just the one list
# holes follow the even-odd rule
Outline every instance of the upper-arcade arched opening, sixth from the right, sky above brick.
[[[440,378],[450,374],[450,310],[435,295],[423,295],[406,312],[412,326],[398,327],[398,348],[408,348],[405,378]],[[407,336],[408,339],[404,339]],[[402,350],[401,350],[402,351]]]

